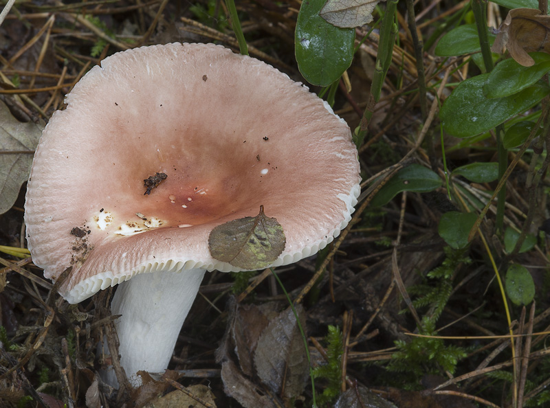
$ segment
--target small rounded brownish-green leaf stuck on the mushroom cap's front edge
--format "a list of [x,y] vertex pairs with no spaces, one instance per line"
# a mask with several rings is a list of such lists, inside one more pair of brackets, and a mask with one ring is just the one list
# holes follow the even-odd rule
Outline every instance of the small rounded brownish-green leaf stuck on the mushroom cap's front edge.
[[272,264],[286,245],[283,227],[263,214],[218,225],[210,232],[208,249],[212,258],[242,269],[263,269]]

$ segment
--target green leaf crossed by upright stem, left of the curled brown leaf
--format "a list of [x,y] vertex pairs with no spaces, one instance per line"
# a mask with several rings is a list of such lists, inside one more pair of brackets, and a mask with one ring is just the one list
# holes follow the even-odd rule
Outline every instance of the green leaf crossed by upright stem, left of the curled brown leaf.
[[[489,43],[493,45],[496,36],[488,33]],[[437,56],[456,56],[480,52],[479,38],[475,24],[459,25],[453,28],[439,40],[435,47]]]

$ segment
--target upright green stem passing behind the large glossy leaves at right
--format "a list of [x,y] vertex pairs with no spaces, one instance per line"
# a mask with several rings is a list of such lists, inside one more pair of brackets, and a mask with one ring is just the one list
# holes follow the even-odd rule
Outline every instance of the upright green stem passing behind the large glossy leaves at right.
[[[476,20],[477,35],[479,37],[479,45],[481,45],[481,54],[483,55],[483,63],[485,70],[491,72],[493,70],[493,56],[489,46],[489,36],[487,35],[487,5],[483,0],[472,0],[472,12]],[[502,136],[504,128],[502,125],[496,126],[496,149],[498,155],[498,178],[502,179],[508,167],[508,153],[504,148]],[[496,203],[496,231],[501,234],[504,228],[504,210],[506,205],[506,184],[498,192]]]

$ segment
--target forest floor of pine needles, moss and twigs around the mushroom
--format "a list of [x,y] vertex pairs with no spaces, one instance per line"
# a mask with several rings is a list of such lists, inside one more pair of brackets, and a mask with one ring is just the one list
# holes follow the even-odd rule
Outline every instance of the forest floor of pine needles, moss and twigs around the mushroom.
[[[294,50],[300,4],[245,0],[237,3],[237,10],[250,56],[305,82]],[[467,4],[418,1],[417,32],[425,40],[440,38]],[[489,3],[489,25],[498,27],[505,16],[502,12]],[[452,170],[496,161],[496,141],[490,135],[469,142],[440,136],[435,95],[441,81],[446,82],[446,87],[441,86],[444,100],[476,67],[466,63],[449,71],[465,60],[434,56],[437,41],[428,41],[422,54],[429,89],[428,111],[423,115],[406,14],[405,4],[399,3],[393,60],[369,122],[369,135],[359,150],[366,192],[356,206],[359,210],[341,238],[317,258],[275,269],[290,299],[301,299],[296,310],[305,322],[311,367],[316,369],[318,406],[516,407],[518,401],[544,406],[550,401],[544,390],[550,370],[547,335],[531,340],[530,334],[550,327],[547,242],[542,234],[537,245],[514,258],[535,282],[536,302],[525,308],[503,299],[495,279],[495,271],[504,279],[503,262],[509,262],[501,231],[495,229],[496,205],[482,225],[482,234],[463,249],[452,249],[438,234],[443,214],[464,209],[454,195],[449,199],[445,188],[441,142],[446,166]],[[213,42],[239,52],[228,15],[219,0],[17,2],[0,26],[0,104],[9,108],[2,126],[15,128],[19,122],[35,126],[25,129],[35,135],[36,146],[40,134],[36,128],[43,128],[54,111],[64,108],[64,96],[74,84],[102,59],[124,49]],[[367,25],[355,32],[358,52],[333,89],[333,109],[352,132],[360,126],[370,98],[379,38],[377,30],[364,38]],[[31,141],[24,150],[10,148],[9,133],[8,129],[0,134],[0,206],[5,207],[0,214],[0,245],[5,246],[0,247],[0,407],[312,405],[309,364],[294,367],[296,359],[304,358],[303,339],[287,297],[270,271],[241,277],[207,273],[166,374],[157,381],[147,378],[137,389],[117,391],[104,384],[98,374],[104,362],[97,343],[109,331],[106,305],[113,290],[69,305],[32,263],[25,252],[23,214],[34,146]],[[9,169],[8,161],[3,161],[8,156]],[[509,159],[515,157],[510,150]],[[395,199],[364,207],[377,185],[382,180],[388,183],[388,174],[395,174],[388,169],[403,170],[412,163],[436,174],[438,187],[425,193],[397,189]],[[532,206],[527,200],[527,174],[529,160],[522,157],[507,181],[505,218],[518,230]],[[548,218],[548,185],[544,174],[531,208],[533,235],[539,227],[544,229]],[[453,188],[479,209],[496,181],[459,179]],[[322,269],[325,273],[315,275]],[[292,336],[286,342],[270,337],[266,333],[275,330],[273,325]],[[511,330],[518,335],[515,341],[509,336]],[[246,343],[236,332],[256,337]],[[248,363],[236,348],[245,348]],[[274,350],[283,372],[270,374],[268,367],[251,363],[254,356]]]

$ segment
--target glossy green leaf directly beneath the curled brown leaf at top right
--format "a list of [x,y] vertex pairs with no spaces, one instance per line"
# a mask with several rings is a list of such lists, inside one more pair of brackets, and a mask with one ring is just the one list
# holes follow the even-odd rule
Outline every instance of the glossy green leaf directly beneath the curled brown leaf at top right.
[[531,52],[529,55],[535,60],[535,64],[531,67],[520,65],[514,58],[508,58],[496,65],[483,87],[487,98],[504,98],[514,95],[514,93],[530,87],[550,71],[549,54]]

